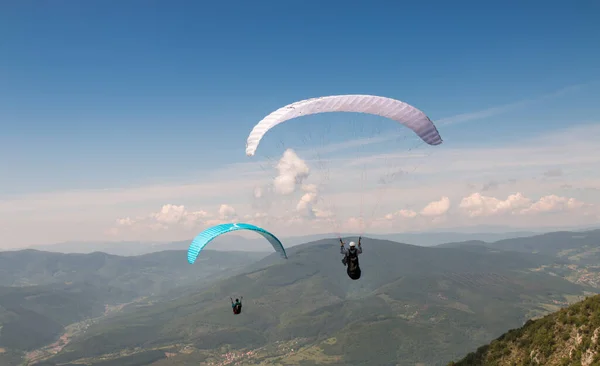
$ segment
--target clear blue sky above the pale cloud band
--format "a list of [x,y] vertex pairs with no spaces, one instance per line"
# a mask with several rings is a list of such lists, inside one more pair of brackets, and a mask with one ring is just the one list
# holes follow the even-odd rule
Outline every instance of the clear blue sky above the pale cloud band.
[[189,183],[247,161],[272,110],[329,94],[434,121],[499,108],[440,126],[449,148],[594,125],[599,15],[595,1],[4,2],[0,197]]

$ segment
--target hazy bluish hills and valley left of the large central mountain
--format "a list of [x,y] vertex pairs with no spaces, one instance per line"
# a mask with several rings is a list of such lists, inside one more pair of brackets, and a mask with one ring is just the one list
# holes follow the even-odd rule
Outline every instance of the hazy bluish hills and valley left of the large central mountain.
[[263,256],[207,250],[192,266],[184,251],[138,257],[0,252],[0,361],[55,342],[65,327],[81,331],[127,304],[177,298]]

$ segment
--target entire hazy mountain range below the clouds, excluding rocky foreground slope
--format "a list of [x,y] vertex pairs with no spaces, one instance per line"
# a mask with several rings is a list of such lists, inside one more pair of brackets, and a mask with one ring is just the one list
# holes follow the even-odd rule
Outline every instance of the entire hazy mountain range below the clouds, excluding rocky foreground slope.
[[359,281],[337,239],[293,246],[288,260],[203,251],[195,265],[182,250],[0,252],[0,363],[445,365],[600,287],[598,230],[363,243]]

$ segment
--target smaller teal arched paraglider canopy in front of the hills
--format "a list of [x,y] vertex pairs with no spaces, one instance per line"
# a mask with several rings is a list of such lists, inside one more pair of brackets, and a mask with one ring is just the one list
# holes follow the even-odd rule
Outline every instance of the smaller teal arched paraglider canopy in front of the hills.
[[263,228],[251,224],[230,223],[210,227],[198,234],[198,236],[196,236],[194,240],[192,240],[192,244],[190,244],[190,247],[188,249],[188,262],[190,264],[194,264],[196,258],[198,258],[198,254],[200,254],[200,252],[206,246],[206,244],[208,244],[217,236],[237,230],[250,230],[259,233],[265,239],[267,239],[269,243],[271,243],[273,249],[275,249],[275,251],[278,252],[282,258],[287,259],[285,248],[283,247],[283,244],[281,244],[281,241],[279,241],[279,239],[277,239],[275,235],[271,234]]

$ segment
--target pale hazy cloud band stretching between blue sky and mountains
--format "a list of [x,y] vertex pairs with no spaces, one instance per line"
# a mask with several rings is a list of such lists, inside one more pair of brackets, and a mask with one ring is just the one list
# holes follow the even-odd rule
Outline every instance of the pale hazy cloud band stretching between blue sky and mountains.
[[595,225],[599,138],[600,124],[588,124],[505,146],[335,157],[325,169],[303,156],[310,152],[288,149],[266,171],[265,162],[253,161],[193,183],[6,197],[0,201],[1,245],[189,239],[229,221],[268,226],[283,237],[475,224]]

